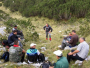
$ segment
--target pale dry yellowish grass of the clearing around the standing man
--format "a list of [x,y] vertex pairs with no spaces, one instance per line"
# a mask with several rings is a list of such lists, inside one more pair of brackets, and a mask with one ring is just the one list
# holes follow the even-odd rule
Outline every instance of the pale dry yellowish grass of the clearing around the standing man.
[[[18,12],[12,13],[9,9],[6,9],[3,6],[0,7],[0,10],[3,10],[5,13],[9,14],[10,17],[12,17],[12,18],[27,20],[27,18],[22,17]],[[70,24],[67,24],[67,25],[66,24],[57,24],[56,21],[49,20],[49,19],[43,18],[43,17],[42,18],[30,17],[30,20],[33,23],[33,25],[36,26],[36,31],[41,34],[39,42],[35,42],[37,44],[37,48],[39,50],[41,50],[40,48],[45,46],[47,50],[43,53],[45,54],[45,56],[49,57],[50,61],[54,61],[54,62],[56,62],[57,59],[56,59],[56,56],[53,55],[53,51],[58,50],[58,45],[61,44],[61,41],[63,39],[62,35],[64,34],[64,31],[67,29],[77,30],[78,25],[80,25],[78,22],[76,22],[72,25],[70,25]],[[49,23],[53,28],[51,42],[45,40],[45,32],[42,29],[46,23]],[[26,31],[26,29],[23,29],[24,35],[25,35],[25,31]],[[62,31],[62,32],[59,32],[59,31]],[[87,37],[87,41],[89,42],[89,37]],[[29,48],[29,45],[32,42],[34,42],[34,41],[30,41],[30,42],[26,43],[26,46],[24,46],[25,50],[27,50]],[[66,56],[68,52],[69,51],[63,51],[64,56]],[[89,66],[90,66],[89,62],[84,62],[83,66],[81,68],[89,68]],[[74,62],[72,62],[72,64],[73,63]],[[10,63],[8,63],[8,64],[10,64]],[[70,68],[80,68],[79,66],[72,65],[72,64],[70,64]],[[11,66],[8,65],[6,68],[8,68],[8,67],[10,68]],[[17,68],[15,66],[13,66],[13,67]],[[30,66],[25,65],[25,66],[21,66],[20,68],[25,68],[25,67],[29,68]],[[32,68],[32,67],[30,67],[30,68]]]

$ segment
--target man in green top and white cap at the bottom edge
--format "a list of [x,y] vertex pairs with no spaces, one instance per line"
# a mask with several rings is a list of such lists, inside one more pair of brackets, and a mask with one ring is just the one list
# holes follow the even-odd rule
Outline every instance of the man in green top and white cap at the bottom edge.
[[54,67],[50,67],[50,68],[69,68],[69,63],[68,63],[66,57],[63,57],[62,51],[57,50],[54,52],[54,54],[56,55],[58,60],[54,64]]

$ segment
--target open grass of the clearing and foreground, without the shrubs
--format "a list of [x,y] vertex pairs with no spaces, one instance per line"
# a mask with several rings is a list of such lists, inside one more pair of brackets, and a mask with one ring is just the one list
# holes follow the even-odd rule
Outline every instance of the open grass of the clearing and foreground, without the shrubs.
[[[83,19],[77,19],[77,21],[74,21],[73,24],[68,23],[69,21],[63,21],[63,22],[65,22],[64,24],[59,24],[62,22],[57,23],[57,21],[54,21],[52,19],[50,20],[50,19],[44,18],[44,17],[41,17],[41,18],[39,18],[39,17],[25,18],[25,17],[22,17],[19,13],[18,13],[19,15],[16,15],[16,12],[11,13],[9,11],[9,9],[5,10],[5,7],[3,7],[3,8],[2,7],[0,7],[0,10],[9,14],[9,16],[12,18],[17,18],[19,20],[22,20],[22,19],[24,19],[24,20],[30,19],[31,20],[31,23],[35,26],[35,31],[37,33],[40,33],[41,35],[39,36],[38,41],[27,41],[27,42],[25,42],[24,49],[25,50],[29,49],[30,44],[33,42],[37,44],[37,49],[39,49],[40,52],[41,52],[41,47],[46,47],[46,51],[42,52],[42,53],[44,53],[46,57],[49,57],[48,60],[51,62],[57,61],[56,56],[53,54],[53,52],[55,50],[59,49],[58,46],[61,45],[61,42],[63,40],[63,35],[68,34],[73,29],[78,31],[79,25],[81,25],[80,23],[85,22],[87,20],[87,19],[83,18]],[[3,21],[2,21],[2,23],[3,23]],[[53,32],[51,33],[52,34],[52,41],[51,42],[49,40],[45,39],[45,31],[43,30],[43,26],[46,23],[49,23],[50,26],[52,26],[52,28],[53,28]],[[4,25],[6,25],[6,24],[4,24]],[[26,35],[27,27],[29,27],[29,25],[27,25],[26,28],[21,27],[20,24],[18,24],[18,26],[23,31],[23,33],[25,35],[25,39],[26,39],[27,38],[27,35]],[[13,27],[10,27],[10,28],[13,28]],[[62,32],[59,32],[59,31],[62,31]],[[90,41],[89,38],[90,38],[90,35],[88,37],[86,37],[86,40],[88,43]],[[63,56],[66,57],[68,52],[70,52],[70,51],[69,50],[63,51]],[[89,55],[90,55],[90,52],[89,52]],[[90,61],[84,61],[83,66],[73,65],[74,62],[72,62],[70,64],[70,68],[89,68],[90,67],[89,62]],[[29,65],[22,65],[22,66],[10,65],[11,62],[7,62],[7,64],[8,64],[7,66],[5,66],[5,64],[0,64],[0,66],[3,68],[34,68],[32,66],[29,66]]]

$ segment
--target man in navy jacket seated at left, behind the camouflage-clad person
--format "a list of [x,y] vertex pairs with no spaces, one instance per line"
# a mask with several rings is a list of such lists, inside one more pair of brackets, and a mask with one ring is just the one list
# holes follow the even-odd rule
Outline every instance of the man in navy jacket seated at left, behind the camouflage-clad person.
[[23,45],[22,45],[21,42],[20,42],[21,39],[18,38],[18,36],[17,36],[17,30],[14,30],[13,33],[11,33],[11,34],[8,36],[8,44],[9,44],[10,46],[13,46],[15,40],[18,40],[19,46],[20,46],[20,47],[23,47]]

